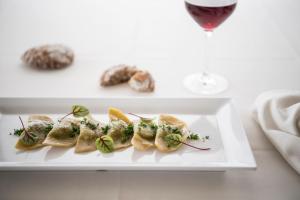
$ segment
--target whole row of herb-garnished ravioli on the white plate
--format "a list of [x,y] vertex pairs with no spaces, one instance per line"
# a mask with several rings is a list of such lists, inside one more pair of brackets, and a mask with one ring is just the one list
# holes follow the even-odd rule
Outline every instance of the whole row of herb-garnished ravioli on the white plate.
[[131,145],[141,151],[156,147],[162,152],[172,152],[182,145],[198,150],[209,149],[188,144],[187,140],[201,139],[204,142],[209,138],[200,138],[190,132],[185,122],[172,115],[160,115],[157,122],[156,118],[128,114],[138,117],[138,120],[132,122],[121,110],[110,107],[109,122],[105,124],[92,118],[89,110],[82,105],[72,106],[71,112],[56,123],[45,115],[31,115],[25,128],[19,117],[23,128],[14,129],[14,135],[19,136],[15,147],[30,150],[42,146],[75,146],[76,153],[97,149],[110,153]]

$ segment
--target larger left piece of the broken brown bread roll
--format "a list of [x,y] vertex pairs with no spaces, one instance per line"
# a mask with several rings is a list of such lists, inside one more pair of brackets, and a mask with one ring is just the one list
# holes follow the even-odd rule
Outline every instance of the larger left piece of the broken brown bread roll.
[[101,76],[101,86],[112,86],[125,83],[138,71],[135,66],[117,65],[104,71]]

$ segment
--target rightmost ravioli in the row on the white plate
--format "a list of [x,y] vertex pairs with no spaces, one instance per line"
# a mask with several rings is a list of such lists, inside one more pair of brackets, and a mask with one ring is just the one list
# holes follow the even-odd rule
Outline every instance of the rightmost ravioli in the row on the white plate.
[[187,125],[172,115],[160,115],[155,137],[155,146],[159,151],[171,152],[181,147],[181,142],[168,143],[166,139],[169,136],[176,136],[185,142],[188,137]]

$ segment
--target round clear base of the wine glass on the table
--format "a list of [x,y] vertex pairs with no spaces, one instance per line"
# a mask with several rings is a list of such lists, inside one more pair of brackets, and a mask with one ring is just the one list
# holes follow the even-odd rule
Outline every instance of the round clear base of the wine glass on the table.
[[228,88],[228,81],[217,74],[191,74],[183,80],[184,86],[195,94],[214,95]]

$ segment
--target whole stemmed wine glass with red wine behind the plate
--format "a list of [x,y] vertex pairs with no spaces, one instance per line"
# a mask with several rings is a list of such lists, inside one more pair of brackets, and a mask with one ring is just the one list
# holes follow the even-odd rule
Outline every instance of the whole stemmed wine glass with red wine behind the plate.
[[185,0],[185,6],[192,18],[205,32],[203,71],[185,77],[187,89],[197,94],[212,95],[228,88],[228,81],[208,72],[210,64],[209,42],[213,30],[223,23],[234,11],[237,0]]

